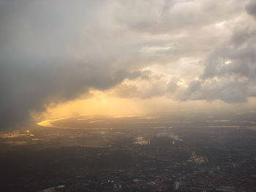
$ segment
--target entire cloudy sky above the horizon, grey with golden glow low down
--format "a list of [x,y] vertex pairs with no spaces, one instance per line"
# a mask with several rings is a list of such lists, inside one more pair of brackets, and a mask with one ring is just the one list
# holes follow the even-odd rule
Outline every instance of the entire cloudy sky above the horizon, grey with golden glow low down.
[[0,0],[0,129],[256,107],[256,1]]

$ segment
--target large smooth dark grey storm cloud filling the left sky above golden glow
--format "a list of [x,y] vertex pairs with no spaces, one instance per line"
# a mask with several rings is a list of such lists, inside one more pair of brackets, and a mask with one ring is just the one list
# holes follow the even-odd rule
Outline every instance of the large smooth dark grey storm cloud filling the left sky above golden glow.
[[113,39],[115,26],[103,5],[1,1],[1,129],[20,126],[31,110],[44,110],[49,101],[140,76],[127,64],[127,48]]

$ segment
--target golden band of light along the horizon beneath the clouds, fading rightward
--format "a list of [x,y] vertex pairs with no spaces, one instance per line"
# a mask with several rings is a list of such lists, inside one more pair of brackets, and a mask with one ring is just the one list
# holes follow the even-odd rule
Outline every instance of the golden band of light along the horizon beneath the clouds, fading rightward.
[[[112,92],[113,93],[113,92]],[[61,104],[52,104],[47,107],[42,114],[34,115],[39,126],[57,127],[54,122],[66,118],[80,117],[93,118],[104,116],[110,118],[144,117],[148,115],[157,116],[164,112],[170,115],[181,115],[184,112],[197,110],[242,110],[249,104],[254,105],[255,99],[249,99],[248,104],[227,104],[223,101],[174,101],[167,97],[152,97],[148,99],[140,98],[120,98],[114,96],[110,91],[91,91],[88,95],[82,96],[73,101]],[[196,107],[195,107],[196,106]],[[80,119],[78,118],[78,120]]]

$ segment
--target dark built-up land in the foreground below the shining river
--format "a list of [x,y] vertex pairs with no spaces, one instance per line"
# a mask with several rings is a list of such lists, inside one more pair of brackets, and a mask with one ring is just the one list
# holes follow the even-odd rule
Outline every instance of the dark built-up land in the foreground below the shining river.
[[0,191],[256,191],[256,131],[35,128],[1,134]]

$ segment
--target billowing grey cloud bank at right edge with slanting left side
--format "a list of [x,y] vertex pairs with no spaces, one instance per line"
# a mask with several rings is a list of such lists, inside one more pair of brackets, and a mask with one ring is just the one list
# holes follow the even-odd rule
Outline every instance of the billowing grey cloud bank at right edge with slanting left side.
[[192,81],[180,98],[221,99],[228,103],[247,101],[255,96],[256,27],[237,28],[233,36],[206,58],[200,80]]

